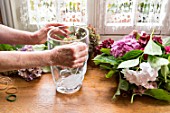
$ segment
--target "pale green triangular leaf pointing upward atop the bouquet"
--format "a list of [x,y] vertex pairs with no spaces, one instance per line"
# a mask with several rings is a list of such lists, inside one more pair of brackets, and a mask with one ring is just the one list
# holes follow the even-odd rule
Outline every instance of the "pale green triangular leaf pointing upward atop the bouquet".
[[157,45],[153,40],[152,37],[150,38],[148,44],[144,49],[144,54],[148,55],[162,55],[162,50],[159,45]]

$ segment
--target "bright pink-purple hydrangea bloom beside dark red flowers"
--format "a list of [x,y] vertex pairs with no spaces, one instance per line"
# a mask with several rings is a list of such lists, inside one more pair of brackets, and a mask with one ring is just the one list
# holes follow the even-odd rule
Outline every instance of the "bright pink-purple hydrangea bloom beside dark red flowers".
[[112,45],[111,54],[117,58],[135,49],[140,49],[140,45],[137,40],[133,38],[132,35],[128,35],[125,36],[124,39],[116,41]]

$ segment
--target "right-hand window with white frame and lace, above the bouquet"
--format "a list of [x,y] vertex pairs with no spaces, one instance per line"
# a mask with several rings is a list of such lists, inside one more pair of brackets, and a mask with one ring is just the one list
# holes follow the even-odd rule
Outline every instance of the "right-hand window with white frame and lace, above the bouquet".
[[160,34],[168,16],[168,0],[100,0],[97,23],[101,34],[127,34],[133,29]]

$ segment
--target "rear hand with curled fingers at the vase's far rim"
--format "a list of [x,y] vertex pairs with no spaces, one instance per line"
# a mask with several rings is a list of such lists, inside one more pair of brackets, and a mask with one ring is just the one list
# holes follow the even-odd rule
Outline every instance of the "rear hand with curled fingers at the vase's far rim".
[[[58,34],[60,36],[67,37],[70,33],[68,27],[64,24],[60,23],[49,23],[45,27],[41,28],[40,30],[33,33],[33,40],[35,44],[43,44],[47,40],[47,33],[48,31],[53,28],[58,27],[58,29],[53,30],[54,34]],[[59,37],[55,36],[54,38],[59,39]]]

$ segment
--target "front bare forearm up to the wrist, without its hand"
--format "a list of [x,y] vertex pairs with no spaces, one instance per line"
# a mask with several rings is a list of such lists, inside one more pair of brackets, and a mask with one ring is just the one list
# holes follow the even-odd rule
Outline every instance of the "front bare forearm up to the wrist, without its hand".
[[50,54],[50,51],[0,51],[0,72],[49,66],[51,65]]

